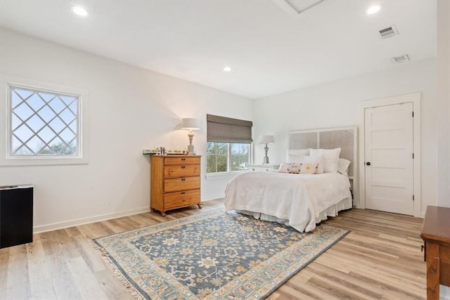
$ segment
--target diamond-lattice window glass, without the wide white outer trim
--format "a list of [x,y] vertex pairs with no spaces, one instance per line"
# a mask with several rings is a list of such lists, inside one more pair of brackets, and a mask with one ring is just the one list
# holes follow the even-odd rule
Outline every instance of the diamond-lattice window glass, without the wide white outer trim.
[[79,155],[79,96],[9,86],[9,155]]

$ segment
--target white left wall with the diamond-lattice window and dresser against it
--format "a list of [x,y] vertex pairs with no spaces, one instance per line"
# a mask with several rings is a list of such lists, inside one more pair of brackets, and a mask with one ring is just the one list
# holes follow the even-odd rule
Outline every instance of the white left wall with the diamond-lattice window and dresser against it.
[[[0,31],[0,72],[89,91],[89,164],[0,167],[0,185],[34,184],[37,231],[147,210],[150,164],[142,150],[186,149],[182,117],[203,120],[193,141],[204,155],[202,174],[206,114],[252,119],[247,98],[8,30]],[[223,195],[226,180],[203,176],[201,184],[202,200],[210,200]]]

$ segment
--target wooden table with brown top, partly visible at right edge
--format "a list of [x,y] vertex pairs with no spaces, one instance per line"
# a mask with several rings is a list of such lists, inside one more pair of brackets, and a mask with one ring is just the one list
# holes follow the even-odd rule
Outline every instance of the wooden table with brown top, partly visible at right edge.
[[439,299],[439,284],[450,286],[450,208],[427,207],[422,233],[427,262],[427,299]]

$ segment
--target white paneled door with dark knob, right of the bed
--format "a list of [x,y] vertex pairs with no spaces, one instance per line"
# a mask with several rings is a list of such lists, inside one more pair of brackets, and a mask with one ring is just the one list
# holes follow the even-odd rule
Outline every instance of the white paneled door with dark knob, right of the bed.
[[366,208],[413,215],[413,103],[364,114]]

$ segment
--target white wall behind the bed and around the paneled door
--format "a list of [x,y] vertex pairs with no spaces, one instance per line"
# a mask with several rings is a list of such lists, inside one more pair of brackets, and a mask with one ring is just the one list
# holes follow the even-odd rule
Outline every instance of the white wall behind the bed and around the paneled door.
[[[436,60],[406,63],[359,77],[255,100],[255,137],[275,134],[272,163],[285,160],[288,131],[357,126],[359,102],[420,91],[422,211],[436,204]],[[255,145],[255,161],[264,156]]]

